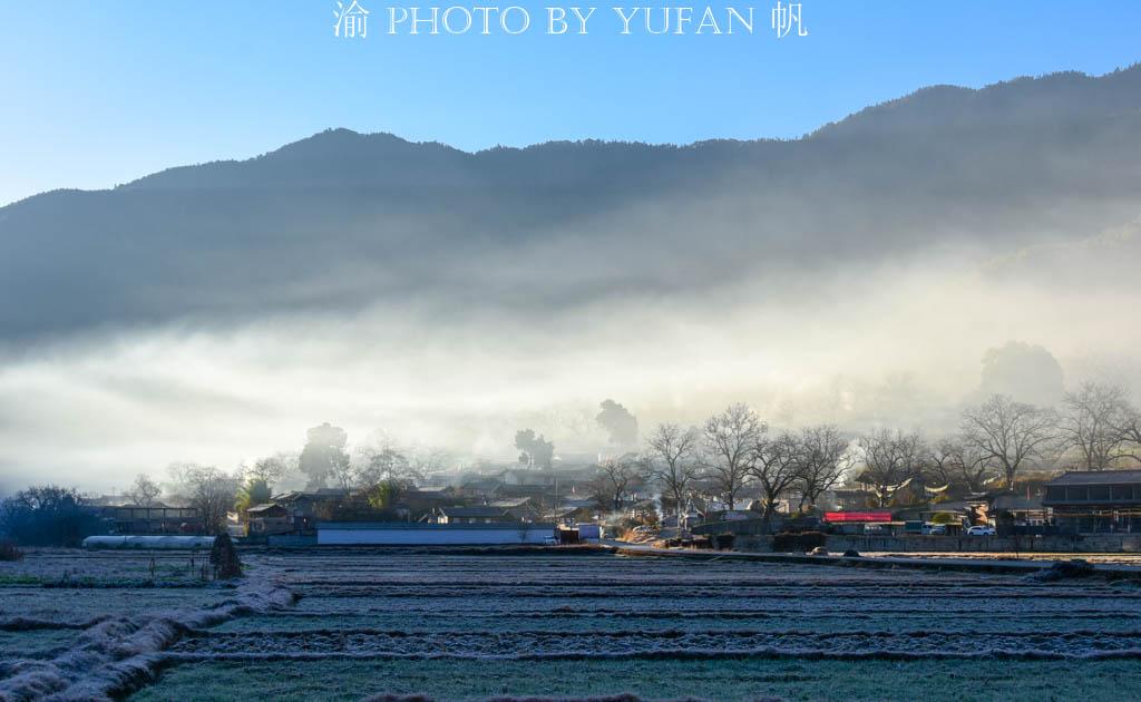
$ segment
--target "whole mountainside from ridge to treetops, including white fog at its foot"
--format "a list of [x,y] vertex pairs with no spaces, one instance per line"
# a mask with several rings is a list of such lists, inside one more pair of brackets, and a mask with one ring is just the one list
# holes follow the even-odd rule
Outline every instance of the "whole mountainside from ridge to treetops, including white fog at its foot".
[[744,401],[938,434],[994,392],[1141,389],[1139,135],[1134,66],[788,142],[339,129],[31,197],[0,208],[0,490],[232,468],[323,421],[460,460],[532,428],[583,460],[605,398],[644,428]]

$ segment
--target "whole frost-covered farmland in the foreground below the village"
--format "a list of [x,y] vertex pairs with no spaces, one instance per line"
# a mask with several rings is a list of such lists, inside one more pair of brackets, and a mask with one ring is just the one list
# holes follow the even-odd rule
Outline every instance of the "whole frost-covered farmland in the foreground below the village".
[[1141,697],[1141,588],[1101,580],[346,549],[248,555],[237,588],[140,587],[114,566],[133,554],[91,560],[116,587],[17,584],[58,567],[42,558],[0,564],[0,620],[40,622],[0,636],[24,665],[0,695],[29,670],[73,687],[87,645],[156,700]]

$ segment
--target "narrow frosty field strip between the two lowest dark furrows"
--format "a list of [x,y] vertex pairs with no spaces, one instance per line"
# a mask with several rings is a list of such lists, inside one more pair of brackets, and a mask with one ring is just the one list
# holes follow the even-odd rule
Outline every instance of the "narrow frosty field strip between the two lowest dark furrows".
[[516,631],[410,634],[307,631],[188,637],[169,654],[176,661],[334,659],[1112,659],[1141,657],[1141,632],[783,632],[783,631]]

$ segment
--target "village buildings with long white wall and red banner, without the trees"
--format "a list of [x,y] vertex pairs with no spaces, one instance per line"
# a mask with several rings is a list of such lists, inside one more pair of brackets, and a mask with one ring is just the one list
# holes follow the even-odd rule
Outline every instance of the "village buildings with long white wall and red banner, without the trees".
[[[795,494],[764,517],[759,490],[745,490],[738,508],[696,498],[686,509],[661,514],[648,485],[630,489],[621,507],[591,495],[597,467],[504,469],[456,476],[455,485],[424,484],[399,493],[382,515],[354,510],[339,489],[273,495],[238,513],[227,513],[226,531],[238,543],[308,547],[322,544],[545,544],[599,542],[604,536],[663,546],[712,546],[710,539],[737,536],[742,548],[770,550],[760,536],[820,532],[836,543],[865,550],[1141,551],[1141,470],[1063,473],[1027,481],[1021,492],[994,490],[944,495],[906,486],[906,506],[867,508],[871,492],[859,483],[824,495],[817,513],[796,513]],[[559,491],[563,494],[559,494]],[[752,495],[752,497],[751,497]],[[942,499],[939,499],[942,498]],[[193,507],[107,505],[94,507],[113,536],[197,535],[205,528]],[[135,543],[140,543],[136,541]],[[823,542],[822,542],[823,546]],[[848,550],[848,549],[841,549]]]

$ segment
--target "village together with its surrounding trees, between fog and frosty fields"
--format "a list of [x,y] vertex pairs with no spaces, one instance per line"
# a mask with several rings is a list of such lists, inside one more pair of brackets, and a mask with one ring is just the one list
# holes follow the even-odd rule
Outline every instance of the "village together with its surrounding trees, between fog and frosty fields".
[[[298,461],[306,489],[273,490],[288,482],[281,458],[242,475],[186,466],[169,498],[145,475],[118,498],[30,491],[8,499],[6,525],[26,543],[63,534],[71,542],[57,544],[86,538],[102,547],[226,533],[240,544],[288,548],[621,541],[753,551],[1139,551],[1141,469],[1127,467],[1134,435],[1108,428],[1127,428],[1135,411],[1110,386],[1086,385],[1067,403],[1066,414],[1054,414],[995,396],[964,413],[964,426],[979,433],[934,442],[885,429],[852,437],[827,425],[770,431],[736,404],[702,428],[658,425],[640,451],[597,461],[566,460],[543,435],[520,430],[518,462],[472,468],[410,458],[387,439],[350,458],[346,433],[324,423],[309,430]],[[1111,417],[1092,415],[1107,406]],[[600,410],[613,443],[636,442],[637,419],[624,406],[608,400]],[[1102,429],[1084,429],[1092,425]],[[1012,437],[1017,460],[995,435]],[[1074,469],[1083,457],[1087,469]],[[74,514],[51,517],[44,506],[60,498]],[[29,531],[48,517],[73,524]]]

